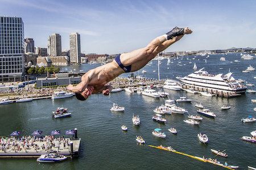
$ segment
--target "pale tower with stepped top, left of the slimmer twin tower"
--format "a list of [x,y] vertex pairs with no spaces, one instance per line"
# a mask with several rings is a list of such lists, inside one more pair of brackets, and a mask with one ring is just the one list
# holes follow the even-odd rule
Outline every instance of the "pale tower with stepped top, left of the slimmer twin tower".
[[53,33],[48,37],[47,53],[48,56],[61,56],[61,36],[59,33]]

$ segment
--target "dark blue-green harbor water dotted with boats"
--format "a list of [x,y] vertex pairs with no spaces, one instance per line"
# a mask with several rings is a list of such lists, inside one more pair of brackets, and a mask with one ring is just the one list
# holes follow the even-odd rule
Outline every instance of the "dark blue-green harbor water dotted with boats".
[[[167,59],[160,65],[160,79],[175,79],[176,76],[185,76],[193,73],[193,65],[197,68],[205,67],[210,74],[227,74],[229,70],[234,78],[243,79],[248,83],[256,84],[255,71],[242,73],[242,70],[251,65],[256,67],[256,58],[241,59],[240,54],[212,54],[207,56],[184,56],[172,59],[167,65]],[[225,57],[226,61],[220,61]],[[181,59],[182,58],[182,59]],[[239,62],[234,62],[238,60]],[[191,62],[191,63],[189,63]],[[62,67],[64,71],[88,71],[99,64],[81,64]],[[221,69],[220,69],[221,68]],[[146,70],[146,74],[141,71]],[[156,71],[154,71],[156,70]],[[147,78],[158,79],[158,61],[139,70],[135,75],[144,75]],[[127,77],[128,73],[121,76]],[[255,87],[248,87],[256,90]],[[160,90],[156,88],[156,90]],[[49,135],[52,130],[77,128],[81,138],[79,158],[68,159],[60,163],[38,163],[36,159],[0,159],[0,167],[4,169],[224,169],[213,164],[200,162],[197,159],[175,154],[164,150],[148,147],[147,145],[172,146],[175,150],[185,154],[205,158],[217,159],[221,163],[238,165],[240,169],[247,169],[247,165],[256,167],[256,144],[243,142],[242,136],[250,136],[256,130],[256,122],[242,123],[241,118],[255,117],[253,108],[255,94],[247,93],[241,97],[222,98],[206,97],[199,94],[188,94],[185,91],[165,90],[170,98],[179,99],[187,96],[192,103],[176,103],[187,109],[189,114],[197,114],[196,103],[203,104],[216,114],[216,118],[203,117],[200,125],[186,124],[188,114],[166,114],[166,124],[152,121],[153,110],[164,104],[164,99],[155,99],[144,95],[128,94],[125,91],[116,92],[109,96],[92,95],[86,101],[79,101],[75,97],[67,99],[43,99],[26,103],[0,105],[0,135],[7,136],[13,131],[22,131],[20,135],[30,135],[35,130],[43,131],[42,135]],[[113,103],[125,107],[125,112],[110,112]],[[229,110],[221,110],[222,105],[231,106]],[[51,117],[57,107],[68,108],[71,117]],[[141,125],[134,126],[133,114],[139,115]],[[126,125],[128,130],[122,131]],[[169,128],[176,128],[177,135],[171,134]],[[155,128],[166,133],[166,139],[152,135]],[[197,134],[204,132],[208,135],[209,143],[205,145],[197,139]],[[141,135],[146,145],[137,145],[136,136]],[[228,158],[216,156],[210,149],[225,150]]]

